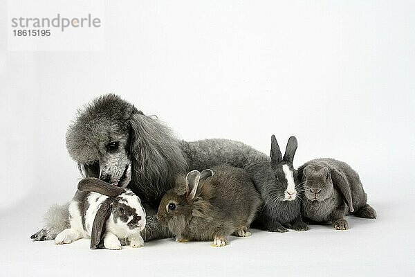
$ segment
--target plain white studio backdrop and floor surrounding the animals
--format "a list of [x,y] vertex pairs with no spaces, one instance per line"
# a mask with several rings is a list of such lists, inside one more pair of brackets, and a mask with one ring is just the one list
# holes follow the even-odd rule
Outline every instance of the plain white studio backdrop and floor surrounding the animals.
[[[10,52],[0,39],[1,271],[414,274],[412,1],[102,5],[104,51]],[[1,1],[1,37],[10,24],[6,10]],[[268,153],[271,134],[282,148],[295,135],[295,166],[317,157],[347,161],[378,219],[352,217],[344,232],[257,231],[223,249],[171,240],[119,252],[90,251],[86,240],[31,242],[46,208],[71,199],[80,180],[65,148],[68,123],[78,107],[109,92],[187,141],[235,139]]]

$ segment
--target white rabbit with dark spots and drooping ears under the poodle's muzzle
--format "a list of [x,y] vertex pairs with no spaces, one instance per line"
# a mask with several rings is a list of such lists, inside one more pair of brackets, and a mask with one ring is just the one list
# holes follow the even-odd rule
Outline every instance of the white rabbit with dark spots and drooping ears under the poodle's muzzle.
[[[131,247],[144,246],[145,209],[131,190],[97,178],[85,178],[69,204],[71,227],[59,233],[55,244],[91,237],[91,249],[121,249],[120,240]],[[103,245],[102,245],[103,241]]]

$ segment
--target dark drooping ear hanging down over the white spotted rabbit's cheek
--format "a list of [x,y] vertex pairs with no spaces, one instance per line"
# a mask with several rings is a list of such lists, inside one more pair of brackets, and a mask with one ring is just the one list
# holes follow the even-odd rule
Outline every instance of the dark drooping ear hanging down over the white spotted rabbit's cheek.
[[98,209],[97,215],[95,215],[95,219],[93,220],[92,224],[91,246],[89,247],[90,249],[104,248],[101,241],[105,233],[105,226],[107,225],[107,220],[111,213],[112,204],[113,199],[106,199],[104,202],[102,202],[100,208]]

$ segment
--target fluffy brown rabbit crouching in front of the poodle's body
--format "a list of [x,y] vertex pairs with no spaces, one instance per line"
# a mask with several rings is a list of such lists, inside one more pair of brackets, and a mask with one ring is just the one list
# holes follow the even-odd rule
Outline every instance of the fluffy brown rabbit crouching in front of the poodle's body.
[[217,166],[179,177],[161,199],[157,219],[176,242],[213,240],[213,247],[223,247],[228,235],[251,235],[248,229],[261,205],[245,170]]

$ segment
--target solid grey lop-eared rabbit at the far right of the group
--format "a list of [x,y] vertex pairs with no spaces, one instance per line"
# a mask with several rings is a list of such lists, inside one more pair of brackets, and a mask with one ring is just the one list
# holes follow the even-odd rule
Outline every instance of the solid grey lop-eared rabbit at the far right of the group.
[[367,204],[358,172],[347,163],[335,159],[314,159],[298,168],[304,181],[306,201],[303,214],[312,222],[331,221],[336,230],[347,230],[345,215],[376,218],[376,211]]

